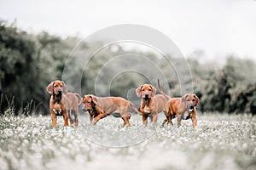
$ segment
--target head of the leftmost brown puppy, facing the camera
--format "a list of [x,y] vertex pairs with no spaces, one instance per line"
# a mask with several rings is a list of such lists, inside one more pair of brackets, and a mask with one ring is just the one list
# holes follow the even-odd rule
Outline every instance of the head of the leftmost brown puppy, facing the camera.
[[67,85],[65,82],[56,80],[54,82],[50,82],[47,86],[46,90],[49,94],[67,94]]

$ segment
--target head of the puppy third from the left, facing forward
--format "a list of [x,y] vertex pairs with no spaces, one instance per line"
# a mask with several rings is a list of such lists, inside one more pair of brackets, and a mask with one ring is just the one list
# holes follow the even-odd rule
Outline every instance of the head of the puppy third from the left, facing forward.
[[141,97],[143,99],[150,99],[156,93],[156,88],[151,84],[143,84],[136,89],[137,97]]

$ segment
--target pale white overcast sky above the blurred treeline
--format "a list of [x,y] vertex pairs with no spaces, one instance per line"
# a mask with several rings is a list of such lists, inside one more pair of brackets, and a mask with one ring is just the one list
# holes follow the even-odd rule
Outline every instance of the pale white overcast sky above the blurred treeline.
[[254,0],[0,0],[0,19],[61,37],[88,37],[119,24],[150,26],[171,38],[185,56],[236,54],[256,60]]

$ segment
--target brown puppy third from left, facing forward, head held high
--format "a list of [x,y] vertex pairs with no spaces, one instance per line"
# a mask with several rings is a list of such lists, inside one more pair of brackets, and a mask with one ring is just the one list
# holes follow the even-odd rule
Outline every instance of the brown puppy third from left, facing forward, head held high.
[[137,88],[136,94],[142,96],[140,111],[143,116],[143,124],[147,126],[148,116],[154,125],[157,122],[158,113],[168,111],[167,99],[161,94],[155,94],[156,88],[151,84],[143,84]]

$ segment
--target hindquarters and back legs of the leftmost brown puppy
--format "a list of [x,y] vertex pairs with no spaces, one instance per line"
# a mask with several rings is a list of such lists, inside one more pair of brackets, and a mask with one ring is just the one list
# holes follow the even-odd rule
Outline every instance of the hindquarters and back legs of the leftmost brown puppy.
[[73,123],[75,126],[79,126],[79,105],[81,105],[81,96],[77,93],[67,93],[66,97],[68,99],[68,119],[70,122],[70,126],[73,127]]

